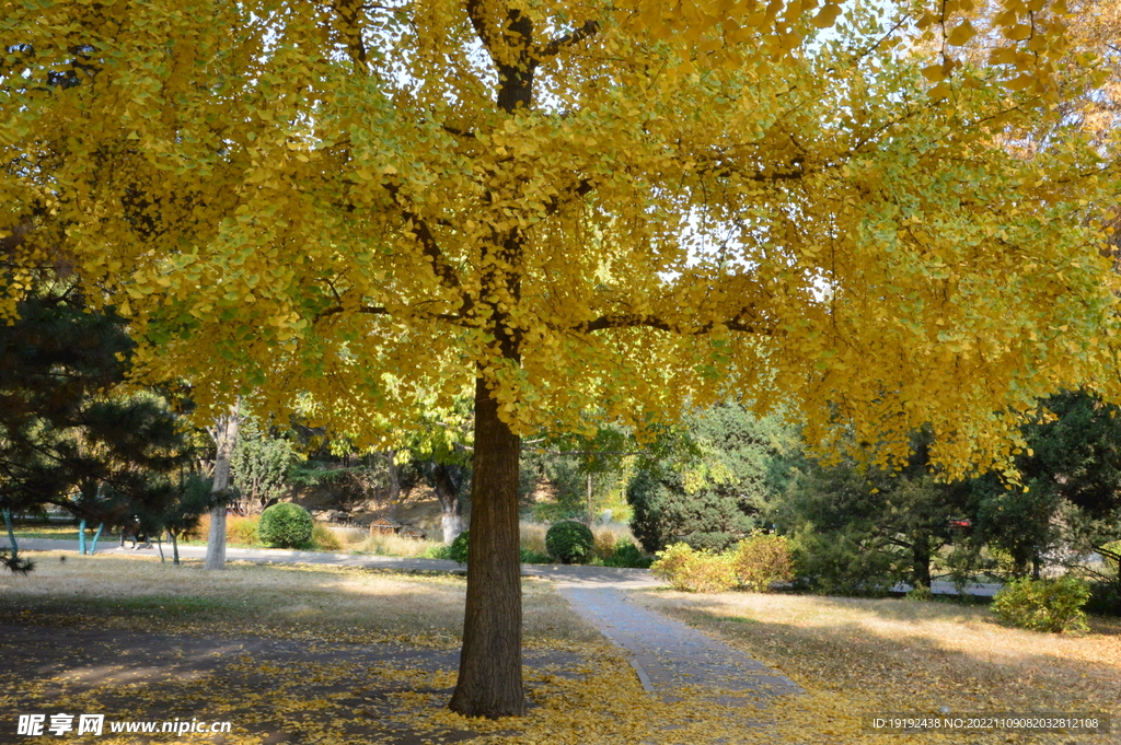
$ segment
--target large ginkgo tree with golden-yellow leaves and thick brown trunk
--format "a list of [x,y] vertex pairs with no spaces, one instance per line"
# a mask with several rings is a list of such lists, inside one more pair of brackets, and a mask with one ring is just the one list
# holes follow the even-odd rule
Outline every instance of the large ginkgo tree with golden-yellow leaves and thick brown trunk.
[[978,69],[961,0],[9,2],[6,307],[67,269],[201,411],[473,385],[452,708],[519,714],[522,435],[731,394],[961,473],[1115,384],[1115,175],[1049,103],[1065,8],[1004,6]]

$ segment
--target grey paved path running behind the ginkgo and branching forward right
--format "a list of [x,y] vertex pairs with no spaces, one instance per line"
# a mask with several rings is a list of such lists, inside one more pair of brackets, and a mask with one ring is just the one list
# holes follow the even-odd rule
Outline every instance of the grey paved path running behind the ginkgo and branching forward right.
[[[19,541],[26,550],[76,550],[74,541],[28,539]],[[165,546],[170,556],[170,548]],[[123,553],[117,543],[102,543],[99,553]],[[141,549],[151,555],[155,549]],[[203,558],[203,546],[184,546],[179,556]],[[317,564],[348,567],[456,571],[464,567],[454,561],[411,559],[355,553],[321,553],[280,549],[228,548],[229,560]],[[626,590],[657,587],[660,583],[648,569],[612,567],[522,565],[522,575],[539,576],[556,583],[573,609],[599,628],[604,636],[629,653],[643,688],[664,700],[676,700],[670,691],[682,685],[713,689],[713,699],[742,704],[800,689],[766,665],[724,642],[711,639],[685,624],[667,618],[630,600]]]

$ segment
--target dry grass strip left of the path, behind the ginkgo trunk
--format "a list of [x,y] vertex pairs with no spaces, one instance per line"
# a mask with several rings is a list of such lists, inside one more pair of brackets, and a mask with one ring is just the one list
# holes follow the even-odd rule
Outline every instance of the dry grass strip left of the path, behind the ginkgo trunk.
[[[454,575],[231,562],[209,572],[146,557],[35,553],[27,577],[0,575],[0,617],[137,630],[328,634],[457,643],[466,585]],[[530,644],[600,639],[545,581],[524,583]]]

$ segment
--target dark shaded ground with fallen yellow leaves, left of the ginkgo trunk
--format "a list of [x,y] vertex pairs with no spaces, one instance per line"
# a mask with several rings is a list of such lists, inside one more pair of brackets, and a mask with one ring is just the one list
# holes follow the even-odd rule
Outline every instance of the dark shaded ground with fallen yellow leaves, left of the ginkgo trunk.
[[[0,639],[6,648],[0,682],[12,691],[9,711],[231,721],[233,733],[209,739],[214,743],[254,736],[299,743],[330,735],[418,744],[476,735],[428,724],[451,698],[457,650],[104,628],[59,632],[8,623],[0,624]],[[530,688],[534,671],[564,674],[580,662],[572,652],[528,652]],[[15,732],[15,724],[0,725],[0,732]]]

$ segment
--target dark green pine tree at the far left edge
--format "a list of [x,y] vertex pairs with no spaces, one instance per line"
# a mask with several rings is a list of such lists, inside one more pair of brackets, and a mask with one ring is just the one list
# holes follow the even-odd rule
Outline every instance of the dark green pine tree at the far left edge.
[[[0,330],[0,503],[54,504],[85,528],[119,525],[143,509],[152,473],[184,457],[183,432],[154,392],[113,392],[132,343],[123,319],[89,313],[73,282],[43,285]],[[9,522],[10,522],[10,515]]]

